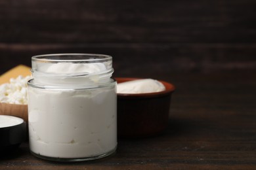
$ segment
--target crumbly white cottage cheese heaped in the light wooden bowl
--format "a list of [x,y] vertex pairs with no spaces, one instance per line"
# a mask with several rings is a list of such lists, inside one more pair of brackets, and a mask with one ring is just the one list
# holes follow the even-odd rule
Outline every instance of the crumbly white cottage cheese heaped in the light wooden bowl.
[[10,83],[1,84],[0,86],[0,102],[27,105],[27,82],[32,76],[18,76],[11,78]]

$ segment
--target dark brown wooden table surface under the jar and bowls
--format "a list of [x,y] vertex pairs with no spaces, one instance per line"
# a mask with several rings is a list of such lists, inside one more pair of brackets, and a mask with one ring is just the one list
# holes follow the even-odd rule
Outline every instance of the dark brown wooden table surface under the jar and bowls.
[[1,155],[0,169],[256,169],[255,73],[160,78],[177,87],[160,135],[119,139],[114,155],[77,163],[40,160],[23,143]]

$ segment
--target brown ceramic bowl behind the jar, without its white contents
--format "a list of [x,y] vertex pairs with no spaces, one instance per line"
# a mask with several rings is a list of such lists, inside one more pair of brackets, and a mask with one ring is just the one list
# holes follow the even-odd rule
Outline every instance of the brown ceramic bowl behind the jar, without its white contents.
[[[117,83],[139,78],[115,78]],[[118,137],[148,137],[161,133],[168,124],[171,94],[175,86],[159,80],[165,91],[155,93],[117,93]]]

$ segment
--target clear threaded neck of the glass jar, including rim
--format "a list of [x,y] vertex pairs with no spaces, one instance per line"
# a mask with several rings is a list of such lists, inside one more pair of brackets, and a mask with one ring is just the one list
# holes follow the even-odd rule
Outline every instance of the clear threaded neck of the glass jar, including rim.
[[33,83],[47,86],[100,86],[114,73],[112,57],[101,54],[48,54],[32,57]]

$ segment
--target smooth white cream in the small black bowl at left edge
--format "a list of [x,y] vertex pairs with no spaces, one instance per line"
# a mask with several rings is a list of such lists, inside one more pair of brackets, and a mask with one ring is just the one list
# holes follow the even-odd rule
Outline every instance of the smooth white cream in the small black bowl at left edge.
[[10,127],[22,124],[24,120],[22,118],[17,118],[14,116],[0,115],[0,128],[1,127]]

